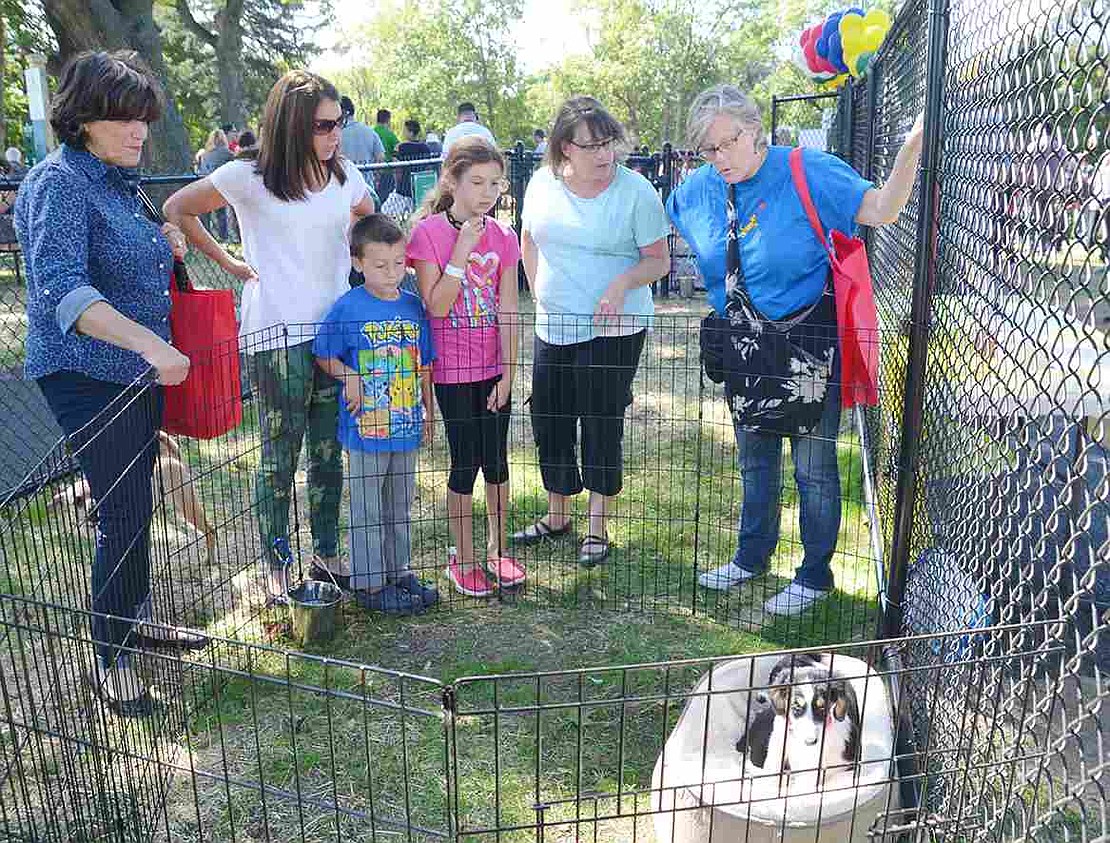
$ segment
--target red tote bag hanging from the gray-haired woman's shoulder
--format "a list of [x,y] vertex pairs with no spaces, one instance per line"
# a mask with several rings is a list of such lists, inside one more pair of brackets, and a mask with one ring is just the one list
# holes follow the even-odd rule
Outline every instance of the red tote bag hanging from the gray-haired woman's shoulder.
[[875,407],[879,403],[879,318],[875,310],[867,249],[859,238],[839,231],[833,231],[831,244],[825,237],[820,217],[809,195],[800,147],[790,152],[790,173],[809,224],[828,252],[833,268],[837,337],[840,340],[840,407]]

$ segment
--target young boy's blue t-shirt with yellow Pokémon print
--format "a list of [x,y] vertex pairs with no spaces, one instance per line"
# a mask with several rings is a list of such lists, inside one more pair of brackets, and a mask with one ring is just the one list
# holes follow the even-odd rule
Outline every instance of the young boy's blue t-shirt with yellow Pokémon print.
[[386,301],[356,287],[320,325],[312,353],[339,358],[362,379],[362,409],[340,404],[337,439],[355,451],[411,451],[424,431],[420,370],[435,359],[420,297],[401,290]]

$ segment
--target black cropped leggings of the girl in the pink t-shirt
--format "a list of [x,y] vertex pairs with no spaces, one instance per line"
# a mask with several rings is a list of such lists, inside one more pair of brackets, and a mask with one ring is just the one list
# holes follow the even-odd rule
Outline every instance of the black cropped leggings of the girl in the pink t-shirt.
[[513,402],[488,409],[490,392],[501,377],[474,383],[436,383],[435,400],[443,414],[451,451],[447,489],[473,494],[478,469],[486,483],[508,480],[508,420]]

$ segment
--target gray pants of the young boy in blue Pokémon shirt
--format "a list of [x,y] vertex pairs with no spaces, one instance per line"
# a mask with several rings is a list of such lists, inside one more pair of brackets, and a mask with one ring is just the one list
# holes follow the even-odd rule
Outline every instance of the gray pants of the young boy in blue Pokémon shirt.
[[351,588],[376,591],[408,571],[416,451],[347,451]]

